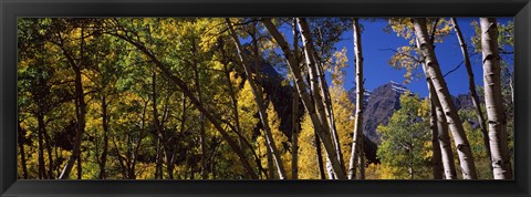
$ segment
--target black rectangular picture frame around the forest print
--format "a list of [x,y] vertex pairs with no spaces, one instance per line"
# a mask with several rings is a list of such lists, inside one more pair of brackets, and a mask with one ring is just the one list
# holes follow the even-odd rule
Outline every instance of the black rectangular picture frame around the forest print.
[[[530,196],[530,0],[0,0],[0,194],[12,196]],[[18,180],[17,18],[514,17],[513,180]]]

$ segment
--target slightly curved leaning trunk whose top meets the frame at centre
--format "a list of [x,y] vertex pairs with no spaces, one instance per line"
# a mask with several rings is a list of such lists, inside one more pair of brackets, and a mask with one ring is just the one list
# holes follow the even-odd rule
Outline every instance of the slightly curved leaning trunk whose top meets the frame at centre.
[[294,58],[294,54],[290,50],[289,44],[285,42],[285,39],[282,37],[282,34],[277,30],[274,24],[271,22],[270,19],[263,18],[262,23],[266,25],[268,31],[271,33],[273,39],[277,41],[277,43],[280,45],[284,56],[288,60],[288,64],[290,66],[290,71],[293,74],[293,77],[295,79],[295,84],[296,84],[296,90],[299,92],[299,95],[302,100],[302,103],[304,105],[304,108],[306,110],[308,114],[310,115],[310,118],[312,121],[312,124],[314,126],[314,129],[319,137],[322,139],[324,149],[326,151],[327,156],[330,157],[330,160],[332,160],[332,167],[337,175],[337,178],[340,179],[346,179],[346,174],[344,170],[342,170],[339,159],[337,159],[337,154],[335,152],[332,138],[330,136],[330,132],[327,129],[324,129],[324,125],[321,124],[320,118],[316,115],[315,112],[315,106],[311,102],[311,98],[306,92],[306,85],[304,83],[304,80],[301,74],[301,70],[299,68],[299,64]]

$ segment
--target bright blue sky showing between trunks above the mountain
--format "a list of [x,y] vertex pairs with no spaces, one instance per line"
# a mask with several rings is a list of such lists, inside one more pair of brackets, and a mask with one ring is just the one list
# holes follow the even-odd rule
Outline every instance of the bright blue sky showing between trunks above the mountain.
[[[464,38],[469,45],[471,35],[473,35],[473,28],[470,25],[472,20],[478,20],[478,18],[457,18]],[[499,18],[498,22],[506,24],[512,18]],[[396,33],[387,33],[383,29],[387,25],[387,21],[378,19],[376,21],[361,20],[361,24],[364,27],[362,32],[362,50],[364,53],[364,76],[365,89],[374,90],[379,85],[388,83],[389,81],[395,81],[402,83],[404,81],[405,71],[396,70],[388,64],[393,51],[385,49],[397,49],[398,46],[407,45],[407,41],[402,38],[396,37]],[[348,56],[348,68],[345,69],[345,89],[350,90],[355,86],[355,75],[354,75],[354,46],[352,39],[352,31],[345,32],[343,34],[344,40],[336,44],[337,50],[341,50],[343,46],[347,49]],[[457,40],[457,37],[454,32],[450,35],[446,37],[441,43],[436,43],[436,54],[440,64],[442,73],[455,69],[462,61],[461,50]],[[475,55],[471,58],[472,70],[475,73],[476,84],[482,85],[482,68],[480,64],[481,54]],[[506,59],[507,60],[507,59]],[[511,61],[512,59],[507,60]],[[423,73],[421,68],[417,73]],[[461,65],[457,71],[445,77],[450,94],[466,94],[468,90],[468,75],[466,68]],[[421,97],[427,96],[428,90],[426,86],[426,81],[423,77],[415,79],[410,83],[405,85],[413,92],[419,94]]]

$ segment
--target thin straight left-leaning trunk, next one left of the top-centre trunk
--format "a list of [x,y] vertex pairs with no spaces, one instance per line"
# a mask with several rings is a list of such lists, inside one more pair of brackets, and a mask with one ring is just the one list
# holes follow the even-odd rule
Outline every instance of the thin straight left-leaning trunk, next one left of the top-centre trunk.
[[[252,79],[252,73],[251,69],[249,66],[249,59],[244,56],[242,46],[240,44],[240,41],[238,39],[238,35],[236,34],[236,31],[232,28],[232,24],[229,19],[226,19],[227,25],[229,27],[229,32],[232,37],[232,41],[236,44],[236,49],[238,51],[238,55],[240,56],[241,64],[243,66],[243,70],[247,75],[247,81],[249,82],[249,85],[251,86],[252,94],[254,95],[254,101],[257,102],[258,105],[258,113],[260,115],[260,121],[262,123],[263,127],[263,133],[266,136],[266,142],[268,144],[268,148],[271,151],[271,154],[273,155],[273,162],[277,166],[277,170],[279,174],[280,179],[285,179],[285,169],[282,164],[282,159],[280,157],[279,151],[277,148],[277,145],[274,144],[273,135],[271,133],[271,127],[269,126],[268,122],[268,113],[266,112],[266,106],[263,102],[263,93],[261,87],[258,87],[257,84],[254,83],[254,80]],[[259,74],[259,71],[257,71],[257,75]]]

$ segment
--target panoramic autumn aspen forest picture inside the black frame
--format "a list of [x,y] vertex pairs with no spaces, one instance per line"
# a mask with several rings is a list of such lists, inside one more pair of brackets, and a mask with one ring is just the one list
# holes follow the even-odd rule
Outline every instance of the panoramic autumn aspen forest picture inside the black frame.
[[18,176],[512,179],[512,61],[507,18],[19,18]]

